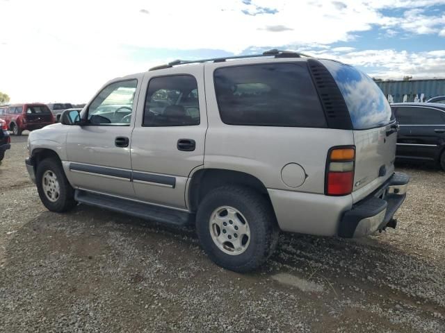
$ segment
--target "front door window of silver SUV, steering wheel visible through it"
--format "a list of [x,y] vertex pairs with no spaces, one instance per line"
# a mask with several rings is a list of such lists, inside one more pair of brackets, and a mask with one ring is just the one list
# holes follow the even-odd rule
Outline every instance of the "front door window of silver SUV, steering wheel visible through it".
[[129,126],[137,85],[137,80],[126,80],[106,86],[88,107],[88,123]]

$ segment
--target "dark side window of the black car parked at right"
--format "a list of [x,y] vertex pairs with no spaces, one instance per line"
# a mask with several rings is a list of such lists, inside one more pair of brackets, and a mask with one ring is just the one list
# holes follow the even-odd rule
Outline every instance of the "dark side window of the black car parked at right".
[[397,108],[396,119],[401,125],[442,125],[445,112],[430,108]]

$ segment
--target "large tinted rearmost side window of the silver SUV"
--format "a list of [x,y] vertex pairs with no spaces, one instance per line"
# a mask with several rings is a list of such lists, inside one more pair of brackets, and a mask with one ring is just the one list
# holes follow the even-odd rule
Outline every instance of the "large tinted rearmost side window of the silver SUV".
[[326,120],[306,66],[223,67],[214,72],[221,120],[230,125],[322,127]]

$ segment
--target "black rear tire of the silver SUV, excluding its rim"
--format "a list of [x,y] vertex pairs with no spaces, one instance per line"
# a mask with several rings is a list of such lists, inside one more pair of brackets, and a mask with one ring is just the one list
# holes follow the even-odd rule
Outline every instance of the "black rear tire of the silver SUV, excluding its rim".
[[[211,236],[211,216],[222,206],[234,207],[248,221],[250,241],[245,251],[238,255],[220,250]],[[277,221],[268,200],[248,187],[239,186],[218,187],[204,197],[197,210],[196,232],[202,248],[213,262],[240,273],[252,271],[266,262],[278,241]]]

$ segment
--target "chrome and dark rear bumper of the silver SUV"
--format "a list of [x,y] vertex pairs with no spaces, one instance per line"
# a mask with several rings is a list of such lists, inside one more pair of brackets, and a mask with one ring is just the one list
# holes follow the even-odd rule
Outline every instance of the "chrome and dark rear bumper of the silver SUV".
[[363,237],[391,225],[393,216],[406,198],[410,178],[405,173],[394,173],[370,196],[344,212],[339,223],[339,237]]

